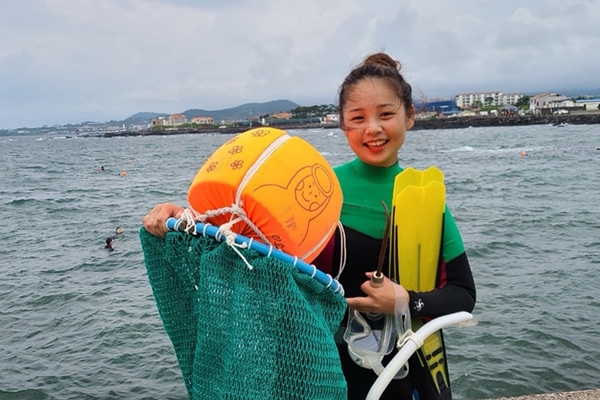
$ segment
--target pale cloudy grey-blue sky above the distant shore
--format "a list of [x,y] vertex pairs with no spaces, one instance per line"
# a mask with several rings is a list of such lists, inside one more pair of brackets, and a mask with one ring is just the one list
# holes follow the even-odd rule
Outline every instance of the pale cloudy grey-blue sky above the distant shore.
[[0,129],[335,104],[384,50],[420,99],[600,93],[600,0],[0,0]]

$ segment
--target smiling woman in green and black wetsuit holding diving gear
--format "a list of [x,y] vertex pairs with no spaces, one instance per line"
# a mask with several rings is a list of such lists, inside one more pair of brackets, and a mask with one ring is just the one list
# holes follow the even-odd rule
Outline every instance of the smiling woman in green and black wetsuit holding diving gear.
[[[314,264],[335,276],[339,273],[340,249],[345,249],[347,261],[339,281],[345,289],[348,306],[361,313],[393,314],[397,302],[407,303],[412,317],[435,318],[457,311],[471,312],[475,306],[475,283],[459,230],[448,209],[438,288],[417,293],[388,278],[379,288],[371,287],[369,282],[378,263],[385,226],[381,200],[391,209],[394,178],[402,171],[398,151],[415,118],[412,88],[400,73],[400,63],[385,53],[367,57],[342,83],[338,106],[340,127],[356,158],[334,169],[344,195],[340,218],[344,235],[338,230]],[[148,232],[165,236],[167,218],[179,218],[183,210],[171,203],[159,204],[143,218],[143,224]],[[348,399],[364,399],[377,375],[352,361],[343,340],[338,341],[338,351]],[[416,353],[409,364],[409,375],[392,380],[381,399],[452,398],[449,387],[441,393],[436,391],[431,375]]]

